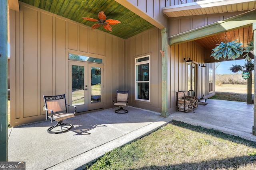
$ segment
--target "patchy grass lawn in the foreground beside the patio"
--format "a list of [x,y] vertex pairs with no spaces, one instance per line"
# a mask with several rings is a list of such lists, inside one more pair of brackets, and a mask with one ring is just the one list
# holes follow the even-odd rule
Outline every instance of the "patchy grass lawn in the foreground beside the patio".
[[90,170],[254,170],[256,143],[173,121],[99,158]]

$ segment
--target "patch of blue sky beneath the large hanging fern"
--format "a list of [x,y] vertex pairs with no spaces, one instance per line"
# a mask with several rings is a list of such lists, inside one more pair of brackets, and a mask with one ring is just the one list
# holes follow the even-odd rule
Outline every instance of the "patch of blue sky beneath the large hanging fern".
[[[232,72],[229,70],[230,67],[232,67],[232,64],[233,65],[244,65],[246,62],[244,59],[242,60],[233,60],[233,61],[223,61],[223,62],[220,62],[220,65],[216,68],[215,70],[215,74],[236,74],[236,73],[239,73],[239,72]],[[218,63],[215,64],[215,66],[217,66]],[[241,72],[242,74],[242,72]]]

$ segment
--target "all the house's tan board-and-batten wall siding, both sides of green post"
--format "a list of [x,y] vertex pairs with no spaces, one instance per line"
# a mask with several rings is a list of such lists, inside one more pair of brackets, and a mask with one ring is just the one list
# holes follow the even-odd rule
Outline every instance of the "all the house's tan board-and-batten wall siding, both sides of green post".
[[[11,100],[11,126],[45,119],[42,95],[68,92],[68,51],[104,59],[104,108],[113,107],[116,90],[130,90],[130,106],[161,111],[159,29],[124,40],[23,3],[20,12],[10,10],[10,24],[14,33],[10,36],[10,88],[11,98],[16,99]],[[170,46],[167,53],[171,113],[176,110],[176,92],[187,90],[184,57],[202,64],[205,52],[195,42],[188,42]],[[136,101],[134,96],[134,59],[145,55],[150,55],[150,102]],[[208,68],[214,68],[214,63],[206,65],[197,69],[198,97],[211,95],[207,91]]]

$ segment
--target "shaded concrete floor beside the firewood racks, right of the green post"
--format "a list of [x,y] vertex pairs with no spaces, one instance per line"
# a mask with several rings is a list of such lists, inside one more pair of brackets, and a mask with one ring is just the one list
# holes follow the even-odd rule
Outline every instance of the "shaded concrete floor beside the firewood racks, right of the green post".
[[172,113],[172,120],[215,129],[256,142],[256,136],[252,135],[253,104],[212,99],[207,99],[206,103],[206,106],[199,105],[194,112]]

